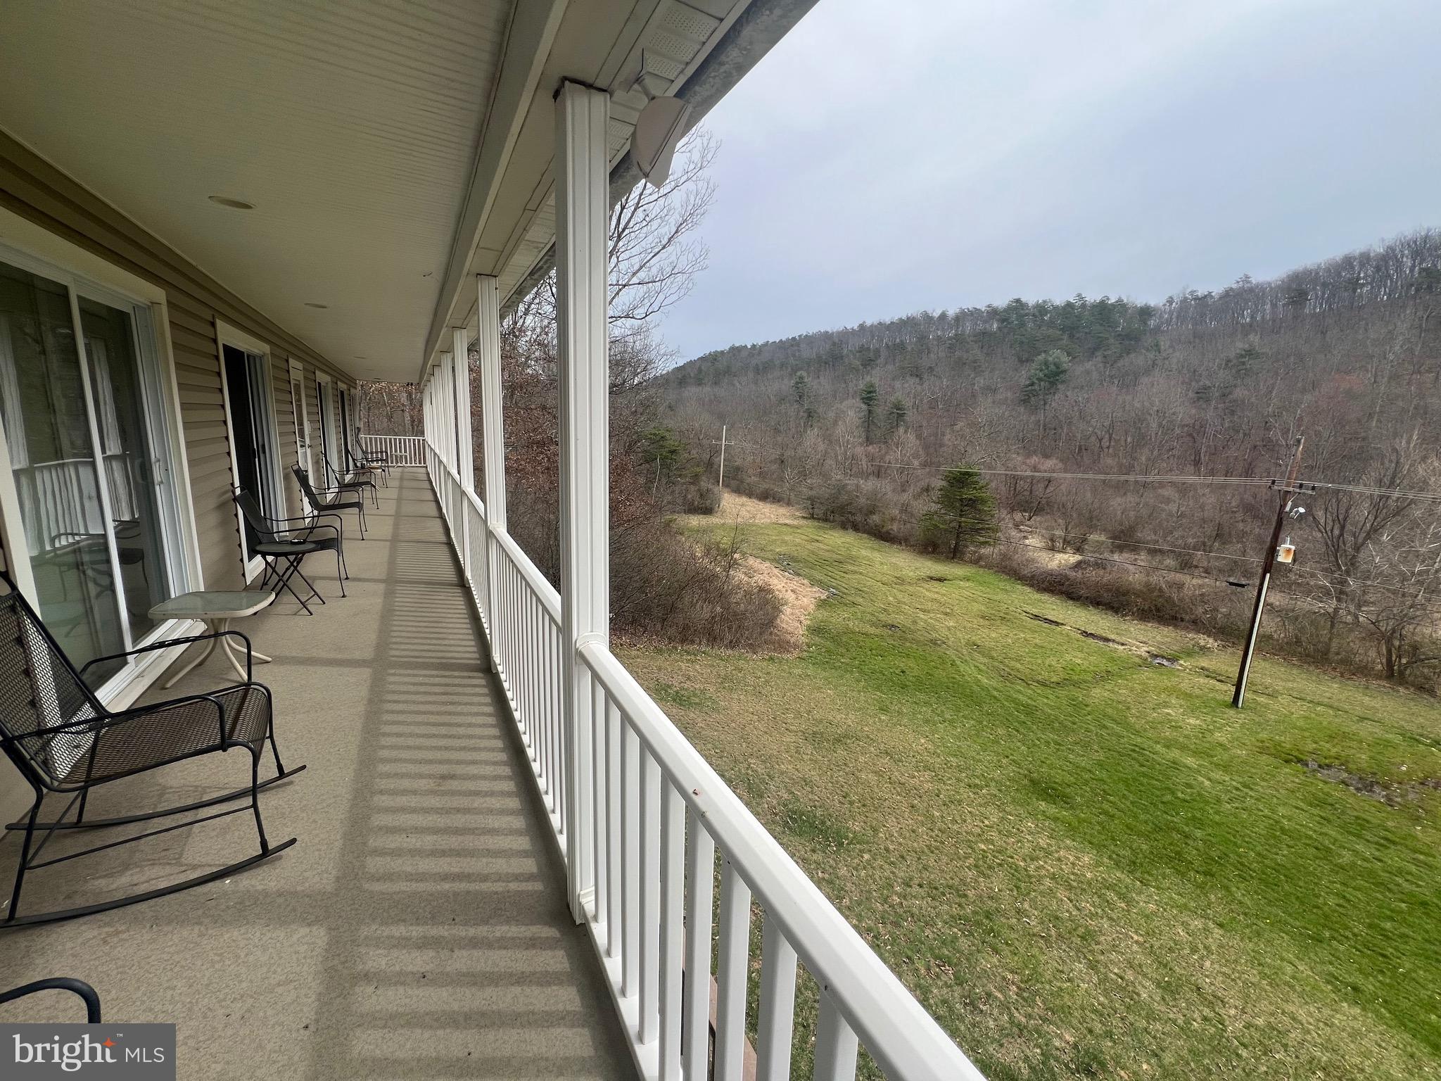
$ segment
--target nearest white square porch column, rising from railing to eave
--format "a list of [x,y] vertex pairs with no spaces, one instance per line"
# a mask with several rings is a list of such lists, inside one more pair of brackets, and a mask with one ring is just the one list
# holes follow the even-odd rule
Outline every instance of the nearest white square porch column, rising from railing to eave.
[[610,97],[562,82],[555,112],[556,336],[561,382],[561,615],[565,657],[565,848],[571,914],[594,895],[592,680],[576,650],[610,644],[610,363],[605,242]]

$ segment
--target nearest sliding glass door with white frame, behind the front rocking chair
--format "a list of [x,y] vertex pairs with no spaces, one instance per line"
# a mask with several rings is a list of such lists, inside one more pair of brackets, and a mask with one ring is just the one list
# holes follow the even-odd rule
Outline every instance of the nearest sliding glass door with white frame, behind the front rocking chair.
[[0,252],[7,556],[76,664],[150,637],[190,588],[161,386],[148,304]]

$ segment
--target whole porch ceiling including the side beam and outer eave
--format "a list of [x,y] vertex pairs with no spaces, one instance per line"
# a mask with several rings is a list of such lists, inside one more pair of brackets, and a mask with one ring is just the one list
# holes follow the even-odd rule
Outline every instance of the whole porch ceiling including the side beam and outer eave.
[[471,275],[504,297],[550,248],[562,78],[615,94],[624,169],[643,48],[682,95],[725,58],[699,115],[813,3],[10,0],[0,127],[334,363],[414,379]]

